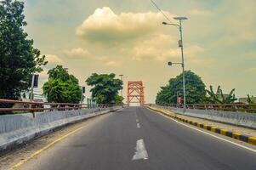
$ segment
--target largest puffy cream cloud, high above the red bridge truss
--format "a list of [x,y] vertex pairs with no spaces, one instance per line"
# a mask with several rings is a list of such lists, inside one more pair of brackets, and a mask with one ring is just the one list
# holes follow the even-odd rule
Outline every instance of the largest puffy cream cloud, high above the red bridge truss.
[[162,20],[161,13],[115,14],[111,8],[97,8],[94,14],[77,27],[77,36],[88,42],[130,40],[156,32]]

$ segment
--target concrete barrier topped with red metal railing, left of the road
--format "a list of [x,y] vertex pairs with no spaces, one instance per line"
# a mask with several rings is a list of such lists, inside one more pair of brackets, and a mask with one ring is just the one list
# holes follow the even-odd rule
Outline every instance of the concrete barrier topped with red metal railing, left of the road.
[[[15,107],[0,108],[0,114],[7,111],[19,111],[21,114],[0,116],[0,154],[3,150],[50,133],[55,128],[122,108],[121,105],[40,103],[6,99],[0,99],[1,104]],[[24,113],[25,111],[31,113]]]

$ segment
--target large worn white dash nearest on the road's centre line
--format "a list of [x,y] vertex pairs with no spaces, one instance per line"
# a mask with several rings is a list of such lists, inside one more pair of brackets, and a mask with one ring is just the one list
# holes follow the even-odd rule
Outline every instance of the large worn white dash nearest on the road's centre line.
[[147,154],[147,151],[145,150],[144,140],[143,139],[137,140],[135,153],[134,153],[132,161],[140,160],[140,159],[147,160],[148,158],[149,158],[149,156]]

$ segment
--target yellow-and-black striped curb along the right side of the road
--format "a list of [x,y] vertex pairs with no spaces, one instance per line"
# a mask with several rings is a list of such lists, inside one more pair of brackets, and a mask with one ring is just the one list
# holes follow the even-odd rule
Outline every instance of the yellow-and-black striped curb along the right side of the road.
[[173,116],[169,113],[170,111],[163,111],[163,110],[157,109],[155,107],[147,106],[147,108],[150,109],[151,111],[160,112],[165,116],[172,117],[172,118],[177,119],[181,122],[191,124],[195,127],[200,127],[200,128],[205,129],[205,130],[211,131],[213,133],[219,133],[221,135],[230,137],[232,139],[237,139],[237,140],[241,140],[243,142],[246,142],[248,144],[256,145],[256,137],[254,137],[254,136],[248,136],[247,134],[243,134],[243,133],[231,132],[231,131],[229,131],[228,129],[225,129],[225,128],[218,128],[218,127],[208,126],[208,125],[202,124],[200,122],[192,122],[188,119],[184,119],[184,118],[181,118],[179,116]]

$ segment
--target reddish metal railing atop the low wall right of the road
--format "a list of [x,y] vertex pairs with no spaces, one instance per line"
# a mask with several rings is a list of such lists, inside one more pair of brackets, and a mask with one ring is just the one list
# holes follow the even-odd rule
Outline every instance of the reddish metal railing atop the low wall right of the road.
[[[164,107],[183,108],[183,105],[170,104],[161,105]],[[189,104],[186,109],[213,110],[213,111],[236,111],[256,113],[256,104]]]

